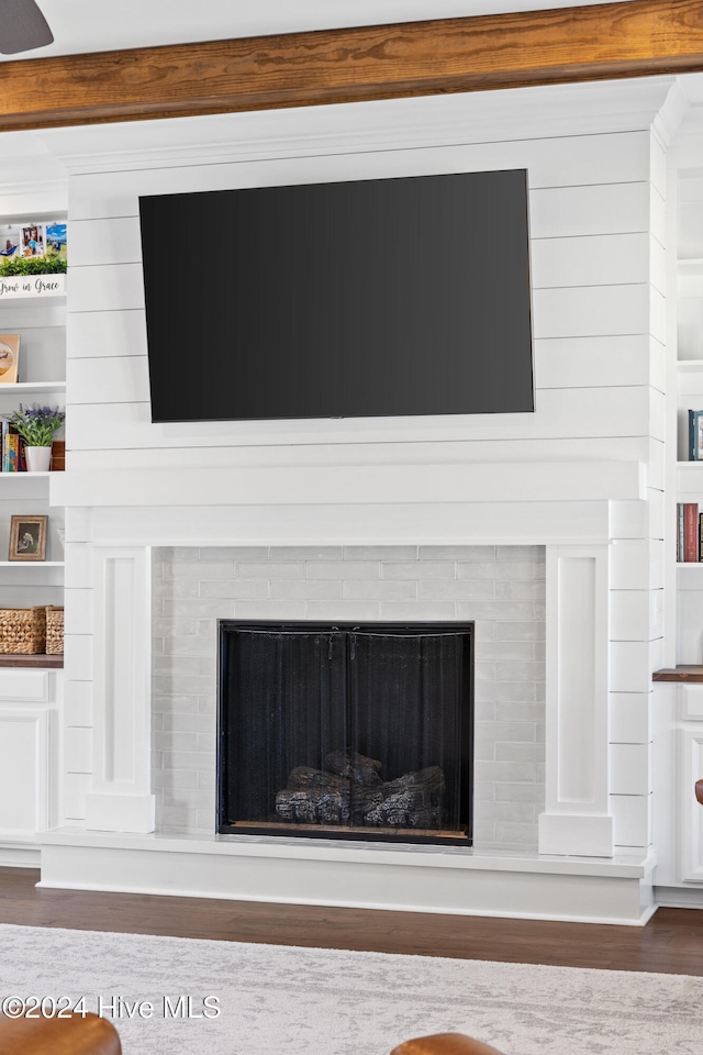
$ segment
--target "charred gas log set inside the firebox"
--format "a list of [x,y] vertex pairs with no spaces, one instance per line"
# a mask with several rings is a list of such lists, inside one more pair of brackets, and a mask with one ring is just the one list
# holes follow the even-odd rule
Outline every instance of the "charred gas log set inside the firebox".
[[325,768],[297,766],[276,796],[276,813],[291,824],[423,829],[443,826],[444,773],[429,766],[394,780],[382,764],[355,751],[333,751]]

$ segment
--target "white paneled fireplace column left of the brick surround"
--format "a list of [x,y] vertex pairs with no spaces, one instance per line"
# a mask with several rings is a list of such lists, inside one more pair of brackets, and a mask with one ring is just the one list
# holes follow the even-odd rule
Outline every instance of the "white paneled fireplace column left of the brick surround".
[[153,832],[150,549],[93,547],[93,776],[86,828]]

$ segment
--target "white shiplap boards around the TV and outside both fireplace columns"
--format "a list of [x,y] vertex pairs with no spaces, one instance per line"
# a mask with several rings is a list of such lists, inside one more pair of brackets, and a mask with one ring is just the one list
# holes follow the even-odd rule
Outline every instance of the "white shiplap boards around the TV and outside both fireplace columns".
[[[292,113],[293,138],[297,120]],[[470,120],[462,135],[471,138]],[[582,134],[557,135],[549,130],[532,138],[518,134],[504,142],[495,134],[491,138],[469,145],[365,149],[361,137],[347,146],[341,141],[335,151],[326,144],[305,156],[276,156],[264,144],[259,156],[243,151],[239,160],[232,159],[236,145],[230,144],[226,156],[193,160],[185,152],[181,164],[171,154],[163,163],[131,165],[113,154],[103,163],[93,158],[85,170],[76,171],[70,178],[70,469],[138,467],[152,470],[156,479],[167,467],[201,465],[204,447],[212,464],[220,466],[252,459],[261,465],[310,465],[311,444],[325,464],[348,462],[361,444],[366,463],[369,451],[378,451],[382,460],[389,449],[402,449],[402,460],[412,464],[414,451],[420,455],[427,444],[440,451],[443,442],[450,442],[455,464],[639,460],[650,464],[650,484],[656,481],[663,442],[665,187],[661,151],[654,144],[649,122],[633,119],[633,127],[607,133],[590,126]],[[267,153],[271,156],[264,156]],[[534,414],[150,423],[141,195],[491,168],[528,170]],[[188,266],[186,256],[182,264]],[[426,455],[419,459],[426,460]],[[638,722],[645,732],[637,737],[627,732],[629,719],[623,719],[633,714],[641,719],[646,711],[656,653],[657,619],[644,629],[639,602],[646,602],[649,611],[650,588],[661,586],[659,487],[650,487],[648,497],[648,503],[613,503],[617,551],[612,562],[612,706],[621,732],[611,737],[617,777],[612,790],[615,839],[628,846],[648,842],[648,775],[644,784],[633,782],[629,762],[633,747],[638,760],[640,748],[647,754],[648,719]],[[79,511],[76,518],[82,531],[76,537],[89,538]],[[235,544],[237,538],[228,541]],[[71,757],[67,802],[68,815],[80,820],[91,767],[92,581],[83,546],[69,547],[67,560],[66,742]]]

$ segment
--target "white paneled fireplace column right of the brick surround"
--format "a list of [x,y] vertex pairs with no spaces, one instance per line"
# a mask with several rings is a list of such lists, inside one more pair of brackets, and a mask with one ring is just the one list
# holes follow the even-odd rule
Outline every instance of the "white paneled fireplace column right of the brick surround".
[[547,546],[546,585],[546,773],[539,852],[612,857],[607,546]]

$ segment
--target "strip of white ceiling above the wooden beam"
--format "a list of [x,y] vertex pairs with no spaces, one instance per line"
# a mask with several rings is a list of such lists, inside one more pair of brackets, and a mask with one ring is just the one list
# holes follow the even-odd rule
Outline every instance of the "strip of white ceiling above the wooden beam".
[[[600,0],[37,0],[54,33],[47,47],[14,58],[43,58],[220,41],[299,30],[380,25],[505,11],[598,3]],[[621,0],[623,2],[623,0]],[[2,5],[0,3],[0,12]],[[0,14],[1,16],[1,14]]]

